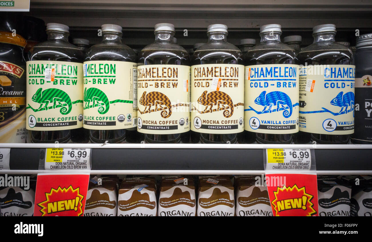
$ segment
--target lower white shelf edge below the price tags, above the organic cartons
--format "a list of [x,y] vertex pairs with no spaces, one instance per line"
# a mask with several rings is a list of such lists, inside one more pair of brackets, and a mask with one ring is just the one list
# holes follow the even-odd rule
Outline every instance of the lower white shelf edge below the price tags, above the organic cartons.
[[[45,171],[45,170],[0,170],[0,174],[37,174],[37,173],[63,173],[79,171]],[[262,170],[91,170],[81,173],[103,175],[261,175]],[[317,175],[372,175],[372,171],[317,171]]]

